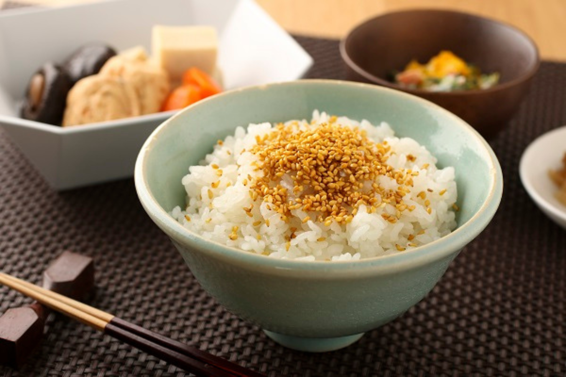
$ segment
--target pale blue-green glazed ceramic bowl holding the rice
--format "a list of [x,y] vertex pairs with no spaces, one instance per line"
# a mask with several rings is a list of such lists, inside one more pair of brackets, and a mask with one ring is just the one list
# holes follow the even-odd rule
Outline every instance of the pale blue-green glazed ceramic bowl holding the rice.
[[[410,251],[349,262],[280,260],[204,240],[168,213],[185,204],[181,178],[218,139],[249,123],[310,119],[312,110],[388,122],[456,169],[458,227]],[[424,99],[380,86],[301,80],[233,90],[161,124],[135,167],[138,196],[203,288],[226,309],[290,348],[324,352],[353,343],[422,300],[460,250],[487,226],[503,179],[495,154],[468,124]],[[188,271],[187,271],[188,274]]]

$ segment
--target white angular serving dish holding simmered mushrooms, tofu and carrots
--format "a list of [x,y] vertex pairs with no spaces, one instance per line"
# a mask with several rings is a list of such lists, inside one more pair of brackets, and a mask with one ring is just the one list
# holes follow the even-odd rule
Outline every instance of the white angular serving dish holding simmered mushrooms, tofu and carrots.
[[[224,88],[301,78],[312,58],[252,0],[114,0],[0,14],[0,126],[49,185],[70,189],[133,175],[141,145],[174,112],[61,128],[19,118],[32,74],[85,43],[144,46],[151,28],[212,25]],[[203,132],[206,125],[203,124]]]

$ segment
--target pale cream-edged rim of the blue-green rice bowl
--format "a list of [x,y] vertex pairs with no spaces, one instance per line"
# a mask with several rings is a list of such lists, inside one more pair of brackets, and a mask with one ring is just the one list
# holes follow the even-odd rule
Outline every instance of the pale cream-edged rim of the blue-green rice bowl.
[[[409,99],[410,101],[419,102],[421,105],[432,108],[437,112],[443,113],[444,116],[453,119],[453,123],[458,124],[469,134],[471,138],[474,138],[483,147],[484,155],[489,157],[487,163],[489,166],[489,192],[487,194],[486,200],[482,203],[481,207],[468,222],[462,224],[458,228],[454,229],[449,235],[441,237],[438,240],[432,241],[426,245],[419,246],[414,249],[406,250],[398,254],[383,255],[379,257],[372,258],[362,258],[357,261],[297,261],[294,259],[278,259],[270,258],[266,255],[256,254],[241,250],[238,248],[233,248],[230,246],[222,245],[218,242],[205,240],[203,237],[199,236],[197,233],[190,231],[182,226],[177,220],[173,218],[167,211],[165,211],[156,201],[155,197],[151,194],[148,188],[145,172],[147,171],[147,156],[148,151],[152,149],[152,146],[158,142],[160,134],[165,132],[169,124],[175,122],[177,118],[185,116],[191,112],[197,106],[201,106],[205,102],[215,101],[220,97],[237,96],[239,93],[245,93],[253,90],[268,89],[273,86],[293,86],[293,85],[318,85],[318,84],[329,84],[329,85],[345,85],[350,87],[359,87],[370,90],[377,90],[381,92],[387,92],[391,96],[397,96],[399,98]],[[236,125],[234,125],[235,128]],[[188,168],[188,166],[187,166]],[[216,257],[221,259],[229,259],[231,263],[240,266],[248,267],[262,267],[271,268],[275,270],[289,270],[289,271],[355,271],[362,272],[367,269],[375,270],[376,267],[387,267],[383,272],[396,272],[400,270],[405,270],[408,268],[414,268],[417,266],[425,265],[436,261],[437,259],[447,257],[450,254],[458,252],[471,240],[473,240],[479,233],[487,226],[492,217],[494,216],[496,210],[498,209],[499,202],[501,200],[501,195],[503,192],[503,174],[501,172],[501,167],[499,161],[495,156],[494,151],[479,135],[474,128],[469,124],[464,122],[464,120],[458,118],[451,112],[444,110],[442,107],[435,105],[434,103],[427,101],[426,99],[414,96],[412,94],[404,93],[399,90],[385,88],[383,86],[377,86],[373,84],[364,83],[354,83],[351,81],[341,81],[341,80],[327,80],[327,79],[308,79],[308,80],[295,80],[295,81],[285,81],[277,82],[271,84],[254,85],[247,86],[245,88],[238,88],[234,90],[229,90],[228,92],[217,94],[216,96],[209,97],[202,101],[195,103],[194,105],[188,106],[186,109],[179,111],[170,119],[166,120],[164,123],[159,125],[155,131],[149,136],[149,138],[144,142],[141,147],[140,153],[136,160],[135,170],[134,170],[134,181],[136,192],[138,193],[141,205],[144,207],[145,211],[149,216],[156,222],[157,226],[160,227],[165,233],[176,242],[182,245],[193,246],[201,249],[207,250],[207,253],[215,254]],[[179,176],[179,184],[181,184],[181,176]]]

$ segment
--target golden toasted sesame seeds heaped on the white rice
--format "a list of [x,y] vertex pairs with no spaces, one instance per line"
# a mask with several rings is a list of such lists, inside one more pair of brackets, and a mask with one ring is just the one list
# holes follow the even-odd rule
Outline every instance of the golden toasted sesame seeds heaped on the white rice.
[[[368,213],[387,203],[398,211],[408,210],[402,198],[410,192],[413,174],[387,164],[391,146],[371,141],[366,131],[342,127],[336,124],[337,118],[332,119],[307,129],[278,124],[263,138],[256,138],[257,145],[250,151],[259,158],[257,168],[263,176],[248,176],[255,197],[285,219],[293,216],[291,210],[301,209],[315,212],[314,218],[320,216],[327,226],[333,221],[351,222],[361,205]],[[398,187],[380,187],[376,180],[381,175],[396,180]],[[281,186],[284,176],[293,182],[291,195]]]

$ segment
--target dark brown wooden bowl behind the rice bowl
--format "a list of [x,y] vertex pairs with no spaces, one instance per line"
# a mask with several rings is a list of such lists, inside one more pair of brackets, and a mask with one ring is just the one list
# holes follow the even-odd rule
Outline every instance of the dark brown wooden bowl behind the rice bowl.
[[[450,50],[482,72],[499,72],[490,89],[451,93],[405,89],[389,81],[411,59],[425,63]],[[350,80],[428,99],[460,116],[484,137],[501,131],[520,106],[539,67],[537,46],[524,32],[479,16],[444,10],[384,14],[355,27],[340,43]]]

